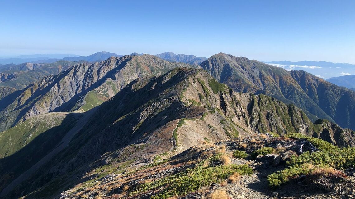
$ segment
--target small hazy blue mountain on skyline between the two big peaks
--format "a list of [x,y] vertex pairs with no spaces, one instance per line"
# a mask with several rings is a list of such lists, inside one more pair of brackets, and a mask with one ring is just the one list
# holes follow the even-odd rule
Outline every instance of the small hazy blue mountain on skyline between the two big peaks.
[[165,59],[169,62],[183,62],[188,64],[200,64],[207,59],[206,57],[196,57],[195,55],[176,55],[172,52],[164,52],[155,56]]

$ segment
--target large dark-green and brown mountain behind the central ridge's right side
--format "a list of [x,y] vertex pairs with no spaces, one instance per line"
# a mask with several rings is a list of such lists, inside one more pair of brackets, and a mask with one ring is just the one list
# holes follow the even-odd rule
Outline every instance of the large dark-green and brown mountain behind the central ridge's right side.
[[273,96],[302,108],[313,121],[323,118],[355,129],[351,123],[355,119],[355,93],[312,74],[224,53],[208,58],[200,66],[237,92]]

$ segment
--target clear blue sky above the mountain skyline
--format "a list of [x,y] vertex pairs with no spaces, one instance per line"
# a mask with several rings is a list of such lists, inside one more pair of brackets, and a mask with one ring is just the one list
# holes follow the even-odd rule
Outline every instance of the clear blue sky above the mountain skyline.
[[355,64],[355,1],[0,1],[0,57],[224,52]]

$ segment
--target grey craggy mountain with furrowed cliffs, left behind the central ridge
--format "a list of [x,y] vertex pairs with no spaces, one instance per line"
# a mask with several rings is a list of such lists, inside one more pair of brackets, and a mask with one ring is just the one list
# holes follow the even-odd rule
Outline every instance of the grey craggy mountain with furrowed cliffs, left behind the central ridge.
[[[43,113],[73,111],[86,104],[80,111],[88,110],[142,75],[161,75],[175,67],[197,66],[170,63],[151,55],[111,57],[94,64],[78,64],[13,93],[8,97],[12,101],[1,100],[0,130]],[[85,100],[87,97],[92,100]]]

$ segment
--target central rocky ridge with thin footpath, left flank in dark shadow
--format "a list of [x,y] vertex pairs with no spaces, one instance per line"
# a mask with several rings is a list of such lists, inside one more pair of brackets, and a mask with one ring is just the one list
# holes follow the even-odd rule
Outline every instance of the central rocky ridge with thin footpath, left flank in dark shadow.
[[[349,138],[328,133],[334,143],[353,144],[355,136],[354,132],[326,120],[312,124],[300,109],[272,97],[236,93],[206,71],[191,68],[175,68],[162,76],[138,78],[109,101],[77,114],[89,119],[76,122],[83,127],[65,140],[68,145],[52,154],[52,158],[40,159],[41,164],[31,172],[27,170],[26,175],[0,169],[1,175],[9,174],[0,183],[2,197],[53,198],[76,184],[97,181],[111,172],[124,170],[127,165],[171,157],[202,142],[227,141],[255,132],[318,136],[330,125],[333,131],[343,131],[341,134]],[[18,127],[8,131],[14,128]],[[36,140],[40,142],[41,138]],[[32,143],[24,148],[36,149],[38,146]],[[0,165],[26,163],[28,168],[34,164],[28,163],[26,156],[14,158],[16,155],[1,159]]]

